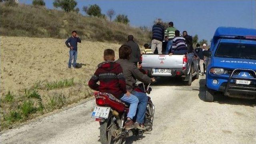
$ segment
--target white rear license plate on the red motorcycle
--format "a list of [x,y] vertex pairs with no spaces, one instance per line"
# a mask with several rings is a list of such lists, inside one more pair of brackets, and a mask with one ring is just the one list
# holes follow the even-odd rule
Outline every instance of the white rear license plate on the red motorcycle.
[[110,107],[95,106],[92,118],[108,118]]

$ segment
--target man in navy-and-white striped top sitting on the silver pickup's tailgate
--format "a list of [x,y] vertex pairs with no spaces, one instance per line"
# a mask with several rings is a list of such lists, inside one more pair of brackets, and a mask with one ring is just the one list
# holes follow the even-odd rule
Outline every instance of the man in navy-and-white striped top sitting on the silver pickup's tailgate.
[[185,38],[180,36],[180,31],[176,30],[175,31],[175,38],[172,40],[173,45],[172,49],[170,50],[170,54],[177,54],[177,55],[182,55],[186,54],[188,52],[188,47],[185,42]]

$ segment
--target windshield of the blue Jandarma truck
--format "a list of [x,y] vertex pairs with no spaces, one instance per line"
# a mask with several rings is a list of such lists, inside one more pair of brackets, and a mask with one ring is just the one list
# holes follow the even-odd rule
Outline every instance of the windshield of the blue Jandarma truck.
[[220,43],[216,57],[256,59],[256,44]]

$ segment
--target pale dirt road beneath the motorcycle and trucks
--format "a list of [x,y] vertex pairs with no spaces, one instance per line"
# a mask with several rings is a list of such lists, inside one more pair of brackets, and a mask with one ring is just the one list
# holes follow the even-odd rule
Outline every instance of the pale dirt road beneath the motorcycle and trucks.
[[[201,77],[202,78],[202,77]],[[199,85],[200,83],[200,85]],[[152,86],[156,106],[152,132],[130,144],[255,144],[256,108],[250,100],[203,102],[204,80],[182,86],[164,80]],[[90,118],[94,100],[1,134],[4,144],[98,144],[99,124]]]

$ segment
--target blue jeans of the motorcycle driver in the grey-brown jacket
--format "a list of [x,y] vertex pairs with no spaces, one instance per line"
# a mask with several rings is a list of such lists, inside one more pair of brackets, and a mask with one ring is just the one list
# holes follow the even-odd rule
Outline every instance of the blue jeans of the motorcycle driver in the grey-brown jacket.
[[148,104],[148,96],[146,93],[136,91],[133,91],[132,94],[139,99],[136,122],[143,124]]

